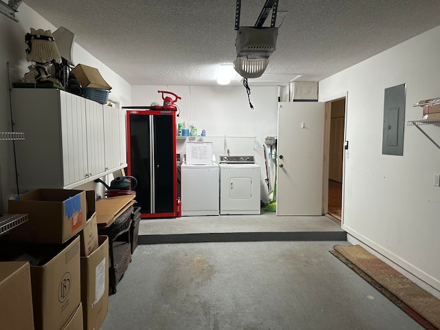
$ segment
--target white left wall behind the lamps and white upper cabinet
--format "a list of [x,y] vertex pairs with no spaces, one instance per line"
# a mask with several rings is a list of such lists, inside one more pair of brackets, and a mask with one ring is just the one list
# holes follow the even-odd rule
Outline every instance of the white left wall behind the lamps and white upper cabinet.
[[[19,12],[16,14],[19,22],[8,19],[0,14],[0,131],[11,131],[10,107],[9,107],[9,89],[8,89],[8,65],[10,63],[10,82],[21,82],[23,75],[28,72],[29,62],[25,56],[25,34],[30,32],[30,28],[56,30],[50,22],[46,21],[32,10],[25,3],[19,6]],[[74,31],[72,31],[74,32]],[[91,67],[96,67],[104,80],[109,83],[113,89],[109,98],[120,102],[120,104],[129,104],[131,102],[131,86],[118,74],[115,74],[107,66],[101,63],[97,58],[91,56],[79,45],[74,46],[75,64],[83,63]],[[50,129],[50,128],[48,128]],[[25,133],[25,132],[24,132]],[[17,142],[19,143],[19,142]],[[12,162],[12,142],[0,141],[0,212],[7,209],[8,197],[14,193],[15,171]],[[11,166],[12,164],[12,166]]]

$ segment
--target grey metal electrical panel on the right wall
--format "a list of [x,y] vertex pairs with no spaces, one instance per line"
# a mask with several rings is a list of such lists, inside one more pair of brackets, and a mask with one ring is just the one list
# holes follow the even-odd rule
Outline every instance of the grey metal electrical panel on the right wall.
[[406,84],[385,89],[383,155],[404,155]]

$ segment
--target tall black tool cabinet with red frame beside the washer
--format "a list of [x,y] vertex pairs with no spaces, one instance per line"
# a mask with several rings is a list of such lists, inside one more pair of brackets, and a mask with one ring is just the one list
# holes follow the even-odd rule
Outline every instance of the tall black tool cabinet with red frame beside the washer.
[[138,108],[126,111],[126,140],[128,175],[137,179],[141,218],[176,217],[175,111]]

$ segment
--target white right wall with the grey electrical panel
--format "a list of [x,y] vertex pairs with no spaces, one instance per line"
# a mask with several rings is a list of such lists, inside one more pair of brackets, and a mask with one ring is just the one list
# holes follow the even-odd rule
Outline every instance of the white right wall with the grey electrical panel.
[[[320,100],[348,91],[343,228],[408,272],[440,289],[440,150],[415,126],[404,155],[382,155],[384,89],[406,83],[405,120],[419,100],[440,96],[440,26],[319,84]],[[440,143],[439,126],[422,126]]]

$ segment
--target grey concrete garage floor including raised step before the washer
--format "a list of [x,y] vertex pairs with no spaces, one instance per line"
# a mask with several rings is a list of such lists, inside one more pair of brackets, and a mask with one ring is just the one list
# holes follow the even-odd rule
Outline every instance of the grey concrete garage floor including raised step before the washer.
[[[216,217],[221,223],[230,223],[225,228],[270,231],[263,224],[262,228],[255,223],[243,226],[237,222],[243,217],[225,217]],[[255,216],[256,223],[259,217],[265,216]],[[201,220],[190,218],[180,219],[178,225]],[[340,230],[340,224],[325,217],[316,221],[294,218],[271,221],[285,221],[278,223],[281,227],[276,232],[289,227],[289,222],[306,232],[306,220],[314,230],[322,231],[332,223]],[[166,234],[159,227],[164,223],[173,227],[173,221],[177,219],[142,220],[142,232],[145,234],[146,226],[150,234],[153,228],[155,234]],[[199,230],[189,228],[181,232],[213,231],[203,225]],[[233,238],[214,243],[138,245],[118,291],[109,297],[109,312],[100,329],[423,329],[329,253],[333,245],[347,245],[347,241]]]

